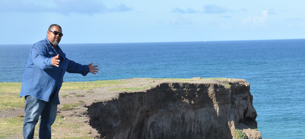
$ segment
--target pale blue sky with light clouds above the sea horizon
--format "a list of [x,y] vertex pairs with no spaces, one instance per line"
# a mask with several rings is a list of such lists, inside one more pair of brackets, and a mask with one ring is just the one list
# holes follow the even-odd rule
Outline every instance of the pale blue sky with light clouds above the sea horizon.
[[305,38],[304,0],[0,0],[0,45]]

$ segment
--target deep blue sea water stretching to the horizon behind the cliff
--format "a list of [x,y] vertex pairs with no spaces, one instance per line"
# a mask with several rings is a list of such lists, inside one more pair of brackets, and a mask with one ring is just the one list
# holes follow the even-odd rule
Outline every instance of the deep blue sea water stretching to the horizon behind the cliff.
[[[21,82],[32,45],[0,45],[0,82]],[[305,137],[305,39],[61,44],[67,58],[99,65],[64,82],[134,77],[246,79],[263,138]]]

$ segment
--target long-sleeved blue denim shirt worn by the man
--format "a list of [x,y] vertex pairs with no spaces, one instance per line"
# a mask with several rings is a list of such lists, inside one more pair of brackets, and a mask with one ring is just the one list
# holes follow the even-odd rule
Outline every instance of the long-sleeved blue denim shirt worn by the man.
[[[56,48],[59,52],[54,50],[47,37],[33,45],[24,71],[20,97],[30,95],[46,102],[60,104],[58,92],[65,72],[80,73],[83,76],[90,72],[88,65],[67,59],[58,45]],[[63,59],[59,62],[59,67],[53,66],[51,61],[57,53],[60,59]]]

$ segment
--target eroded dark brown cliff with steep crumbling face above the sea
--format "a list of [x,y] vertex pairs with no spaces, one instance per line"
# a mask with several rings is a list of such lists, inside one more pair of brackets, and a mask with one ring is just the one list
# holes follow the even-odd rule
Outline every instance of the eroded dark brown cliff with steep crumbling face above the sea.
[[[154,81],[152,81],[154,82]],[[246,80],[164,80],[88,106],[89,123],[106,138],[261,138]]]

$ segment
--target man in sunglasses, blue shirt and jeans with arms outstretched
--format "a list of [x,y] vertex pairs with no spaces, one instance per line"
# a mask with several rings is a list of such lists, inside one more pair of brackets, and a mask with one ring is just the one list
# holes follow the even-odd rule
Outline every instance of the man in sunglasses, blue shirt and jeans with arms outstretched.
[[81,65],[66,58],[58,43],[63,37],[62,28],[52,24],[44,40],[35,43],[30,51],[24,71],[20,97],[25,97],[23,138],[33,138],[34,128],[39,122],[39,138],[51,138],[59,104],[58,92],[63,83],[63,75],[68,73],[98,73],[89,65]]

